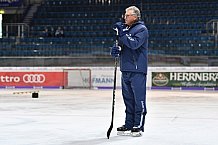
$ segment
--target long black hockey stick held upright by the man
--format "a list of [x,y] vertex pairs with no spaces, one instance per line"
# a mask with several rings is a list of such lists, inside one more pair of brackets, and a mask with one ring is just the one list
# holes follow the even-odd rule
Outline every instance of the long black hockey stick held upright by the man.
[[[115,45],[118,46],[118,29],[114,29],[116,31],[116,41]],[[115,57],[114,59],[115,65],[114,65],[114,86],[113,86],[113,101],[112,101],[112,119],[111,119],[111,125],[107,131],[107,138],[109,139],[111,131],[113,129],[113,124],[114,124],[114,106],[115,106],[115,90],[116,90],[116,78],[117,78],[117,63],[118,63],[118,58]]]

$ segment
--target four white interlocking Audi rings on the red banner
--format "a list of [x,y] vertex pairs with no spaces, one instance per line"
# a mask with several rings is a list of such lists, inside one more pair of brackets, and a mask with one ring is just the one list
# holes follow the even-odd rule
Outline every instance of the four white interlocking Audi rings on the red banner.
[[43,74],[25,74],[23,81],[25,83],[44,83],[45,76]]

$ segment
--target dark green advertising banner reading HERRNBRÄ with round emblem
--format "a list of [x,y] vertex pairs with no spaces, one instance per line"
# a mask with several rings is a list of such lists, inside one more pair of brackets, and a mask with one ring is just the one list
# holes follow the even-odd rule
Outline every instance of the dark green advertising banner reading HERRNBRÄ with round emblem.
[[218,72],[152,72],[153,87],[218,87]]

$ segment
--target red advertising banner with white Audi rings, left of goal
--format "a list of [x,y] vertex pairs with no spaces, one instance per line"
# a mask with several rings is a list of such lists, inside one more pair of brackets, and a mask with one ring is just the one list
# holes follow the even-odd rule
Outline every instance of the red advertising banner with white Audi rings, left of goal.
[[0,72],[0,86],[63,86],[63,72]]

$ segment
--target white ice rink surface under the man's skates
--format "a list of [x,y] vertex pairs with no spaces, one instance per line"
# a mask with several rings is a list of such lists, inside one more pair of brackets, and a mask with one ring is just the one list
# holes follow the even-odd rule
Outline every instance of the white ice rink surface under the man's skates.
[[[117,136],[124,123],[116,90],[110,139],[112,90],[0,90],[0,145],[217,145],[218,92],[147,91],[142,137]],[[15,93],[14,93],[15,92]]]

